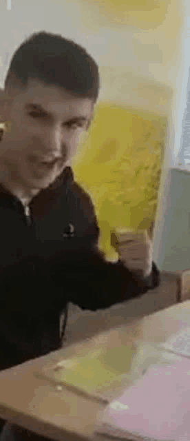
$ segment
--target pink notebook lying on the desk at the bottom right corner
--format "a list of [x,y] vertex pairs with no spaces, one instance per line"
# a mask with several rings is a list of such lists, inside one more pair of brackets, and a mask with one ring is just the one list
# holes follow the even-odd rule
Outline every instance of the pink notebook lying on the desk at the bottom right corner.
[[134,441],[189,441],[190,360],[147,369],[98,414],[94,430]]

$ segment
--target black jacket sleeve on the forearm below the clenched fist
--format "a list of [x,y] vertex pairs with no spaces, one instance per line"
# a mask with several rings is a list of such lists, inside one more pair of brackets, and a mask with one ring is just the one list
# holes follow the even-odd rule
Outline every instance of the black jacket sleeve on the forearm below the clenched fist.
[[151,275],[140,279],[132,274],[120,261],[107,263],[94,254],[87,263],[67,268],[62,280],[66,280],[65,288],[69,298],[81,309],[96,311],[106,309],[116,303],[142,296],[149,289],[158,287],[159,271],[153,263]]

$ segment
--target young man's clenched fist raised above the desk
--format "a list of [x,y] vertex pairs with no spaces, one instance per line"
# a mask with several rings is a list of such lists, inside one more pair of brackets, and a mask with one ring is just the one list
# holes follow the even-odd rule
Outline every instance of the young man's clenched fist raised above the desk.
[[112,245],[129,271],[144,278],[151,274],[153,247],[147,230],[137,233],[116,231]]

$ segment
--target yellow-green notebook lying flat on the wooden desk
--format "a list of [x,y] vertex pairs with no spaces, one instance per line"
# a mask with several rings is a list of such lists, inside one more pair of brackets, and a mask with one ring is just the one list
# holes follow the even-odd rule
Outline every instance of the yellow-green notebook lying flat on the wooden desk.
[[[105,392],[118,387],[123,376],[127,381],[137,351],[138,347],[132,342],[109,349],[96,347],[87,353],[78,352],[52,367],[44,367],[40,376],[60,386],[63,384],[75,393],[109,402]],[[39,377],[39,373],[35,372],[34,376]]]

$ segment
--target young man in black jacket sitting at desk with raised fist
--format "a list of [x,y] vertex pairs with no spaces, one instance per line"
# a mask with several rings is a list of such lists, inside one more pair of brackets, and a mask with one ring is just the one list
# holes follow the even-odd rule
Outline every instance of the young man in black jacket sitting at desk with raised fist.
[[96,311],[159,284],[150,242],[106,262],[92,201],[74,181],[70,160],[98,89],[95,61],[59,35],[33,34],[12,57],[0,110],[10,123],[0,143],[0,369],[61,347],[68,302]]

